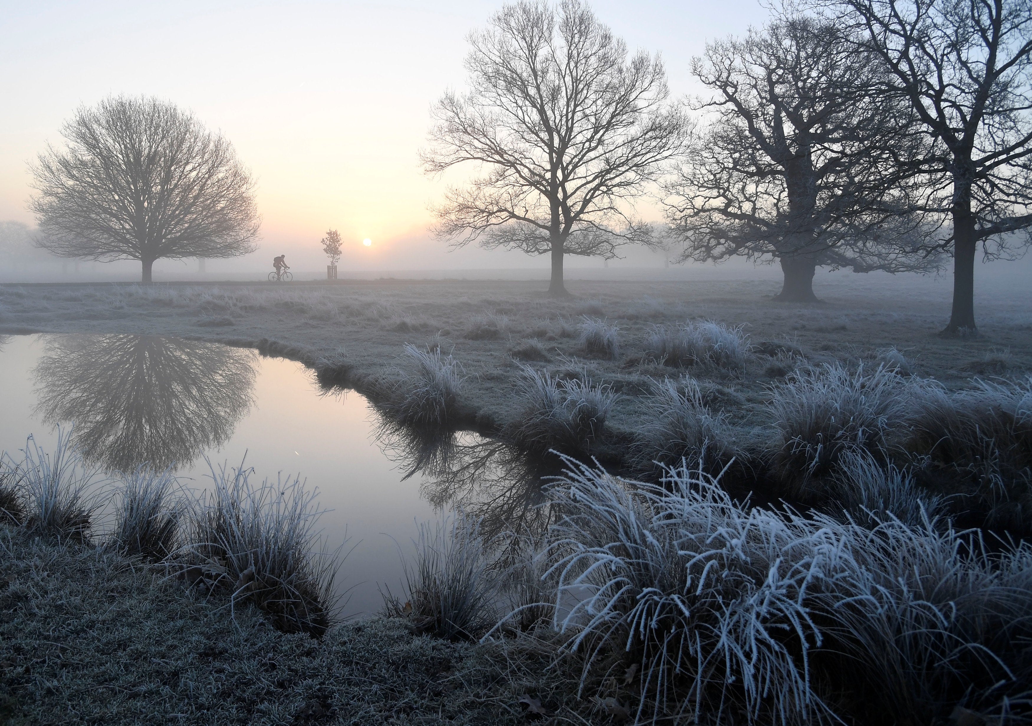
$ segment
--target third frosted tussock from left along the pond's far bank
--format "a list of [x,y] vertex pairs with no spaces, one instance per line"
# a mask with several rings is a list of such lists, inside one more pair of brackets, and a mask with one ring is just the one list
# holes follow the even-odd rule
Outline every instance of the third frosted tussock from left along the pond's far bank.
[[632,454],[638,471],[659,474],[688,461],[705,462],[707,471],[716,473],[741,455],[727,417],[710,410],[696,381],[664,378],[653,382],[653,389]]

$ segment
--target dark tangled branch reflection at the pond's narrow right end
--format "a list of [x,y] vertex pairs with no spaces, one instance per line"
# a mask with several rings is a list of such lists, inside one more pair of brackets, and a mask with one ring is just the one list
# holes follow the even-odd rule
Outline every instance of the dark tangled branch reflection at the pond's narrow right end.
[[470,431],[404,426],[383,414],[377,436],[405,478],[423,475],[423,496],[434,507],[455,507],[480,520],[488,540],[507,532],[543,533],[554,515],[544,489],[561,470],[555,457],[529,457]]

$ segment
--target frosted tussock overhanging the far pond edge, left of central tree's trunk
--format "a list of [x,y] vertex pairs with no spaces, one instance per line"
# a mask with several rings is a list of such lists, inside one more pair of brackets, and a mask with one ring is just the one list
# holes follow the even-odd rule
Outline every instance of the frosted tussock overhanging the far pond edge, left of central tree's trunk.
[[462,386],[462,366],[440,348],[420,350],[411,343],[405,355],[416,371],[402,372],[386,410],[399,423],[440,426],[454,418]]

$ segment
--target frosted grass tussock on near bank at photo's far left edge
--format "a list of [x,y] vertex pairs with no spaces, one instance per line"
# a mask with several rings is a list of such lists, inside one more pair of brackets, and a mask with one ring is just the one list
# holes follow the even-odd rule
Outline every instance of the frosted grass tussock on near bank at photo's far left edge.
[[30,435],[21,461],[4,454],[3,469],[18,488],[22,523],[34,532],[58,539],[86,541],[100,508],[96,468],[71,444],[71,433],[58,430],[53,454]]

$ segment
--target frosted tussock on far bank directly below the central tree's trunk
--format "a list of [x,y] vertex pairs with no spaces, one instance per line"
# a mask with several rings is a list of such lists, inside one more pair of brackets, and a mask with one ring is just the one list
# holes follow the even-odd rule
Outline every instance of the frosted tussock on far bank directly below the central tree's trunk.
[[585,375],[554,378],[522,366],[522,408],[506,428],[517,446],[538,452],[583,453],[602,434],[617,394]]

